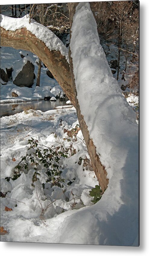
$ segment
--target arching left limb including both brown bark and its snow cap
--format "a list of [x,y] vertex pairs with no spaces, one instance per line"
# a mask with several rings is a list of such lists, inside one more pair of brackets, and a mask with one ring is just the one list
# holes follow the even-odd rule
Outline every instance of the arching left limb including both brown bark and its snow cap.
[[1,15],[1,46],[31,51],[51,71],[66,96],[75,107],[69,68],[68,49],[48,28],[38,24],[29,15],[10,18]]

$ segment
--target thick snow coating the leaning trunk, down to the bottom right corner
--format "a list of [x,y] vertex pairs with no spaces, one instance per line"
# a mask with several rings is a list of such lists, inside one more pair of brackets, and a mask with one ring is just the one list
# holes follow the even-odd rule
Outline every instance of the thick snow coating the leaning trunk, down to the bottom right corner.
[[135,113],[122,96],[108,66],[90,4],[76,5],[68,6],[70,12],[76,9],[74,15],[70,14],[76,108],[81,128],[84,129],[85,123],[96,154],[105,166],[109,184],[99,202],[65,218],[58,230],[59,242],[138,246]]

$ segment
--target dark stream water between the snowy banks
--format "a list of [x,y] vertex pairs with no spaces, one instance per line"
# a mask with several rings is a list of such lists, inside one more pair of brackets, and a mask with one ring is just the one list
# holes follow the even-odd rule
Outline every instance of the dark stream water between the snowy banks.
[[1,103],[0,104],[0,117],[11,116],[24,111],[25,106],[32,106],[35,110],[41,110],[43,112],[52,110],[58,106],[65,106],[67,100],[32,100],[25,102],[13,102],[13,103]]

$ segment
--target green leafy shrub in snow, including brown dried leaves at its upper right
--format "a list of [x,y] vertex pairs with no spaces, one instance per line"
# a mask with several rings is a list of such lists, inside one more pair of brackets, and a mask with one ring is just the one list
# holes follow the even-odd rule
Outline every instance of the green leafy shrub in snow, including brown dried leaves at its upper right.
[[[76,125],[75,128],[71,130],[64,129],[64,133],[67,132],[67,136],[61,141],[56,133],[54,133],[55,139],[58,140],[58,146],[47,147],[45,145],[40,145],[37,139],[28,139],[28,144],[30,147],[27,150],[26,155],[21,156],[21,161],[14,167],[15,172],[13,177],[6,177],[5,179],[9,181],[10,179],[16,180],[22,174],[22,172],[27,173],[29,169],[34,169],[32,182],[36,182],[39,179],[41,168],[46,169],[46,174],[48,175],[47,183],[51,183],[51,187],[56,185],[63,187],[65,182],[62,179],[61,174],[63,168],[59,165],[59,161],[62,157],[67,158],[76,154],[76,149],[73,147],[73,142],[76,142],[78,139],[77,134],[80,130],[79,125]],[[79,138],[80,139],[80,138]],[[70,142],[70,145],[65,146],[65,141]],[[85,159],[79,158],[80,165],[82,160]],[[67,185],[71,185],[72,181],[68,182]],[[32,184],[33,185],[33,184]],[[45,184],[43,183],[43,188]]]

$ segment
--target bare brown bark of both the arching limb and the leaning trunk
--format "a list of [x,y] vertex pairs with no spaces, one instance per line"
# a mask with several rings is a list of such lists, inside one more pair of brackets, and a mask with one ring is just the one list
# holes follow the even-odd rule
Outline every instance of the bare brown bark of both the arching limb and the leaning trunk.
[[[72,25],[73,15],[77,5],[78,3],[68,3],[70,12],[70,25]],[[31,51],[36,54],[41,59],[41,61],[43,61],[46,67],[49,68],[55,79],[64,90],[67,97],[71,100],[71,103],[74,105],[74,107],[76,107],[79,124],[84,136],[85,143],[87,145],[87,150],[90,155],[93,169],[97,176],[98,182],[104,191],[107,188],[109,180],[106,178],[107,172],[105,167],[100,162],[99,155],[96,152],[96,147],[94,146],[93,140],[90,138],[88,127],[84,121],[83,115],[81,114],[74,81],[73,62],[70,56],[71,53],[69,52],[69,67],[66,58],[60,53],[60,51],[50,50],[43,41],[28,31],[27,28],[10,31],[1,27],[1,45],[15,49]]]

